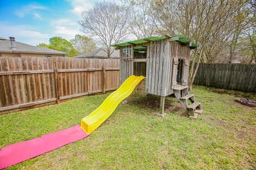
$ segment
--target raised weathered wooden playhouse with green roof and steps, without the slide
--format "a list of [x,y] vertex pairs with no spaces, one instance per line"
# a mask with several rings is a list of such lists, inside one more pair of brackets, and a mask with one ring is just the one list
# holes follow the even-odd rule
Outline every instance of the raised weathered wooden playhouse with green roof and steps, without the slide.
[[[196,44],[181,35],[148,37],[113,45],[120,50],[120,84],[130,75],[146,77],[140,84],[147,94],[161,96],[159,111],[164,115],[164,100],[174,94],[190,118],[202,113],[201,103],[188,92],[190,50]],[[191,104],[188,104],[190,100]]]

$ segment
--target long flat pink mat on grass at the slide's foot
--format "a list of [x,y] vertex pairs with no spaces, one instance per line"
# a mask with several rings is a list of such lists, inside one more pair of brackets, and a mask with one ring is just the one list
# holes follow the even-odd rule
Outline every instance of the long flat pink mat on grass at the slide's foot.
[[40,138],[14,143],[2,148],[0,150],[0,169],[88,137],[89,134],[85,133],[79,126],[78,124],[65,130],[42,135]]

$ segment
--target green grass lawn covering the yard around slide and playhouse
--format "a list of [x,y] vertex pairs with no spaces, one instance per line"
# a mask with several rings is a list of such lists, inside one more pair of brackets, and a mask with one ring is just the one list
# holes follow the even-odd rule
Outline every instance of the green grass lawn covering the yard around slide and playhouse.
[[[235,102],[255,94],[194,86],[204,113],[189,120],[167,97],[133,94],[89,137],[7,169],[254,169],[256,108]],[[79,124],[108,96],[95,95],[0,115],[0,148]]]

